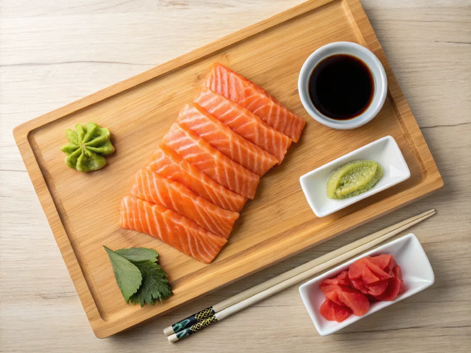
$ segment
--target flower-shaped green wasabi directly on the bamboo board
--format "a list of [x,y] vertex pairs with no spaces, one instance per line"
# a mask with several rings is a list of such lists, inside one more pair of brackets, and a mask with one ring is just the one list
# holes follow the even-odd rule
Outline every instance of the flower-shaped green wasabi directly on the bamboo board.
[[115,152],[110,131],[95,123],[77,124],[75,131],[67,129],[66,137],[69,143],[61,151],[67,154],[66,164],[78,171],[101,169],[107,164],[104,156]]

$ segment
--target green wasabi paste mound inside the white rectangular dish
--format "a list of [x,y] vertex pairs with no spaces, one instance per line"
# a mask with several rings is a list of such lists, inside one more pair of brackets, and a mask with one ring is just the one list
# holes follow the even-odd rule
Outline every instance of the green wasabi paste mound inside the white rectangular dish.
[[327,181],[327,197],[346,199],[370,190],[383,177],[383,167],[373,160],[354,160],[335,170]]

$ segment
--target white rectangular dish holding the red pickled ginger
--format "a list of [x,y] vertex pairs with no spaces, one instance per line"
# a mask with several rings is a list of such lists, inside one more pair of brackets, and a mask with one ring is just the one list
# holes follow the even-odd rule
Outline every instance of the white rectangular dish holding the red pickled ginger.
[[[397,264],[401,266],[402,278],[404,280],[406,291],[398,295],[392,302],[370,303],[370,310],[362,316],[355,316],[352,314],[342,322],[326,320],[319,312],[319,308],[326,300],[324,293],[319,289],[321,282],[326,278],[335,277],[340,272],[346,270],[353,262],[362,257],[377,256],[380,254],[391,254]],[[396,239],[395,241],[385,244],[375,250],[369,251],[368,253],[358,256],[353,260],[330,270],[329,272],[311,279],[299,287],[299,293],[301,294],[302,301],[312,319],[312,322],[314,323],[314,326],[316,326],[316,329],[319,331],[321,336],[327,336],[365,316],[373,314],[383,308],[408,298],[427,287],[430,287],[434,281],[435,275],[429,259],[427,258],[427,254],[414,234],[410,233],[407,234],[407,236]],[[400,315],[400,312],[395,315]],[[378,316],[378,325],[381,325],[380,320],[381,317]]]

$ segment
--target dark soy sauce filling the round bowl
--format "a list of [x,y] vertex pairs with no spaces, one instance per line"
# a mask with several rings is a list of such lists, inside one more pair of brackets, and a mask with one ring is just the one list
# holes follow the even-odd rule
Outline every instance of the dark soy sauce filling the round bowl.
[[308,85],[312,104],[336,120],[352,119],[367,110],[375,92],[368,66],[347,54],[326,57],[312,71]]

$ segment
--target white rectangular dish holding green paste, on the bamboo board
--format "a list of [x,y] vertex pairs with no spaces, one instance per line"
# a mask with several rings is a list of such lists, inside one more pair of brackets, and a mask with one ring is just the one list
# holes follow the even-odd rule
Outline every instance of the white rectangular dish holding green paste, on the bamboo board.
[[[380,163],[384,169],[383,178],[371,190],[360,195],[343,200],[329,199],[326,194],[326,185],[330,175],[342,165],[361,159],[371,159]],[[312,211],[316,216],[324,217],[403,182],[409,177],[410,170],[399,146],[391,136],[385,136],[309,171],[299,178],[299,182]]]

